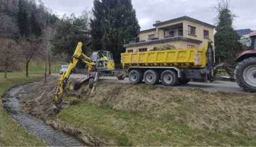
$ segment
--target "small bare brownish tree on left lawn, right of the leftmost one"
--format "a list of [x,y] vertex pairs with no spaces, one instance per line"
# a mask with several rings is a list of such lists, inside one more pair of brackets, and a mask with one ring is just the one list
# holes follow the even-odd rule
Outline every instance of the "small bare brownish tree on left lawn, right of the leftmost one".
[[26,66],[26,77],[28,77],[28,67],[30,61],[35,55],[38,55],[39,47],[41,44],[41,38],[36,38],[34,36],[30,38],[20,38],[19,41],[20,50],[22,51],[22,59]]

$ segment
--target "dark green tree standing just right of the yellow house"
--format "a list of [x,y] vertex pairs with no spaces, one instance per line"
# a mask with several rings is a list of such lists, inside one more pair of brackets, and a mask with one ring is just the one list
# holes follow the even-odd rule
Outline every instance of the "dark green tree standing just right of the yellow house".
[[217,5],[218,24],[215,34],[215,47],[218,61],[232,63],[235,55],[240,51],[240,37],[232,27],[234,15],[230,11],[228,1],[221,1]]

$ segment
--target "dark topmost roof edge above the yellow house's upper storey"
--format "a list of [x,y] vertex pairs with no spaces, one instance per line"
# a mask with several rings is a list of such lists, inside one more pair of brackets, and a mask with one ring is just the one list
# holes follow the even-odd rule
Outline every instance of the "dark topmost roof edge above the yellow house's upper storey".
[[190,22],[195,22],[195,23],[201,24],[203,26],[208,26],[210,28],[216,28],[216,26],[213,26],[211,24],[207,24],[207,23],[202,22],[200,20],[196,20],[195,18],[190,18],[188,16],[182,16],[180,18],[174,18],[172,20],[167,20],[167,21],[164,21],[164,22],[159,22],[159,23],[153,24],[153,26],[161,26],[161,25],[169,24],[169,23],[172,23],[172,22],[178,22],[178,21],[182,21],[182,20],[188,20]]

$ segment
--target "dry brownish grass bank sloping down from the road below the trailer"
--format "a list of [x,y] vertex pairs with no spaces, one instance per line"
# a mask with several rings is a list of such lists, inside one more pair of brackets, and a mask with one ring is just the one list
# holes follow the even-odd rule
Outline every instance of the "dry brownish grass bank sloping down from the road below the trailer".
[[256,137],[255,94],[230,94],[99,82],[86,99],[99,106],[138,111],[146,117],[174,120],[195,129]]

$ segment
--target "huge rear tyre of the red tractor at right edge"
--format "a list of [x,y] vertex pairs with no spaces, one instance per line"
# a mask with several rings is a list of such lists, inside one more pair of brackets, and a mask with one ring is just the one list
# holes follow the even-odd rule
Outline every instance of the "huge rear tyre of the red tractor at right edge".
[[256,92],[256,57],[250,57],[238,63],[235,76],[238,86],[247,92]]

